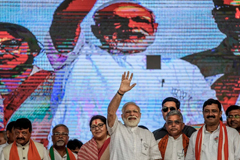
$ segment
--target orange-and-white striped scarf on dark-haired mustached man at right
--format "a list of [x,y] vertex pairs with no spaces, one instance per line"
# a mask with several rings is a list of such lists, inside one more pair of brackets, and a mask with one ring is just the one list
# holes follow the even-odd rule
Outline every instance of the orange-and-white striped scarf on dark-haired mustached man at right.
[[[196,144],[195,144],[195,159],[200,160],[201,157],[201,150],[202,150],[202,132],[203,132],[202,126],[197,134],[196,138]],[[223,148],[223,130],[224,130],[224,160],[228,160],[228,135],[227,135],[227,128],[225,125],[223,125],[222,121],[220,121],[220,131],[219,131],[219,138],[218,138],[218,159],[222,160],[222,148]]]

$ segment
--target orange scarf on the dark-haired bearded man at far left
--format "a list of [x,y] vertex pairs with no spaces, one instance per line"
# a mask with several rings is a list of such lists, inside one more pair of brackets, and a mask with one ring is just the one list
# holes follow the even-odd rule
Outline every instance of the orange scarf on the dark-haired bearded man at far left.
[[[17,150],[17,144],[16,141],[13,142],[11,150],[10,150],[10,157],[9,160],[19,160],[18,150]],[[30,139],[29,142],[29,150],[28,150],[28,160],[41,160],[41,157],[38,153],[38,150],[33,142],[33,140]]]

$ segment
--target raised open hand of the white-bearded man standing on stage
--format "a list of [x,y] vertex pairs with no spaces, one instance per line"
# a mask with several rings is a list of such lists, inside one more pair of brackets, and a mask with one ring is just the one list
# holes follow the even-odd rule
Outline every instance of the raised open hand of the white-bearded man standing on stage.
[[133,77],[133,73],[131,74],[131,76],[129,78],[129,71],[127,72],[127,75],[126,75],[126,72],[123,73],[121,85],[119,88],[120,94],[124,94],[127,91],[130,91],[136,85],[136,83],[130,85],[131,81],[132,81],[132,77]]

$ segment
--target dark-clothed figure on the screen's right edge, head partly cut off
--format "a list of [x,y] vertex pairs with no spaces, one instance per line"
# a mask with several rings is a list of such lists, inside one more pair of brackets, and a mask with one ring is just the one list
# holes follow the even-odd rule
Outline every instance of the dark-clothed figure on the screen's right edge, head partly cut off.
[[238,102],[240,89],[240,3],[234,0],[213,0],[213,18],[226,38],[216,48],[182,59],[199,67],[211,88],[216,91],[224,110]]

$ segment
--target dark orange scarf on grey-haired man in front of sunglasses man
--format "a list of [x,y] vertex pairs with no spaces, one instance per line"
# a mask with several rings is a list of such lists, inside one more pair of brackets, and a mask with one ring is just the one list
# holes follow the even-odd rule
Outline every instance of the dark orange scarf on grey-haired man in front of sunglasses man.
[[[166,152],[166,149],[167,149],[168,137],[169,136],[167,134],[158,143],[158,148],[159,148],[159,150],[161,152],[163,160],[164,160],[165,152]],[[184,133],[182,133],[182,139],[183,139],[184,156],[186,157],[188,144],[189,144],[189,138]]]

